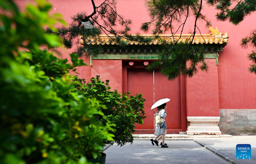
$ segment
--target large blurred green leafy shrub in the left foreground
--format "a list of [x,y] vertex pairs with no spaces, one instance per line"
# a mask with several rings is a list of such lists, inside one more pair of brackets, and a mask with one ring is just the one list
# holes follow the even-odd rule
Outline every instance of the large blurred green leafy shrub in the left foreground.
[[74,87],[78,82],[69,71],[85,64],[74,54],[68,64],[39,48],[61,45],[42,29],[63,22],[60,15],[50,16],[45,1],[24,13],[12,1],[0,6],[0,163],[82,164],[96,158],[104,141],[113,141],[114,129],[100,111],[105,107]]

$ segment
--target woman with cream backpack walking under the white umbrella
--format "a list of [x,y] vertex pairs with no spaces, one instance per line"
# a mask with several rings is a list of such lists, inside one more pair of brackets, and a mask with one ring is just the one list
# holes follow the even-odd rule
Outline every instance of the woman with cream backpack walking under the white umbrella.
[[[158,141],[162,138],[162,146],[161,148],[167,148],[167,144],[165,144],[165,135],[166,135],[166,129],[167,129],[167,126],[166,126],[166,122],[165,122],[165,117],[166,117],[166,103],[160,105],[157,107],[158,111],[156,112],[159,113],[159,115],[164,119],[164,122],[157,125],[156,124],[156,130],[155,130],[155,133],[154,135],[156,135],[156,137],[154,139],[151,139],[150,141],[152,142],[152,144],[154,145],[154,143],[158,146]],[[156,116],[156,115],[155,115]]]

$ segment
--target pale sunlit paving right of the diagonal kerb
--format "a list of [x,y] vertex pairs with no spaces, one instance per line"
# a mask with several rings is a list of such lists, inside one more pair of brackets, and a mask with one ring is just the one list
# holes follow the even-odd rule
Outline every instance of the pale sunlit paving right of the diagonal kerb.
[[[232,158],[236,163],[256,163],[256,136],[233,136],[231,138],[195,138],[207,146],[219,151],[220,153]],[[250,144],[251,159],[236,159],[236,145]]]

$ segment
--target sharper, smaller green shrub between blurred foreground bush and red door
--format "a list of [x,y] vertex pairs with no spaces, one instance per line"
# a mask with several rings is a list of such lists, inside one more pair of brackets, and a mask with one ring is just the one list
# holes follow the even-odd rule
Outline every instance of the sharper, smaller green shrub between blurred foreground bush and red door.
[[[75,77],[76,88],[80,91],[80,94],[84,97],[95,97],[106,108],[100,108],[100,111],[115,124],[116,131],[112,131],[114,141],[108,140],[107,144],[116,142],[118,145],[124,145],[127,142],[133,143],[132,133],[135,132],[135,123],[143,124],[143,119],[146,118],[144,108],[145,99],[142,94],[136,94],[135,96],[129,96],[130,93],[118,93],[117,90],[111,91],[109,86],[109,80],[105,82],[100,80],[100,76],[91,78],[91,81],[86,84],[85,79],[79,79]],[[93,102],[93,101],[92,101]],[[105,124],[105,120],[99,117],[102,124]]]

